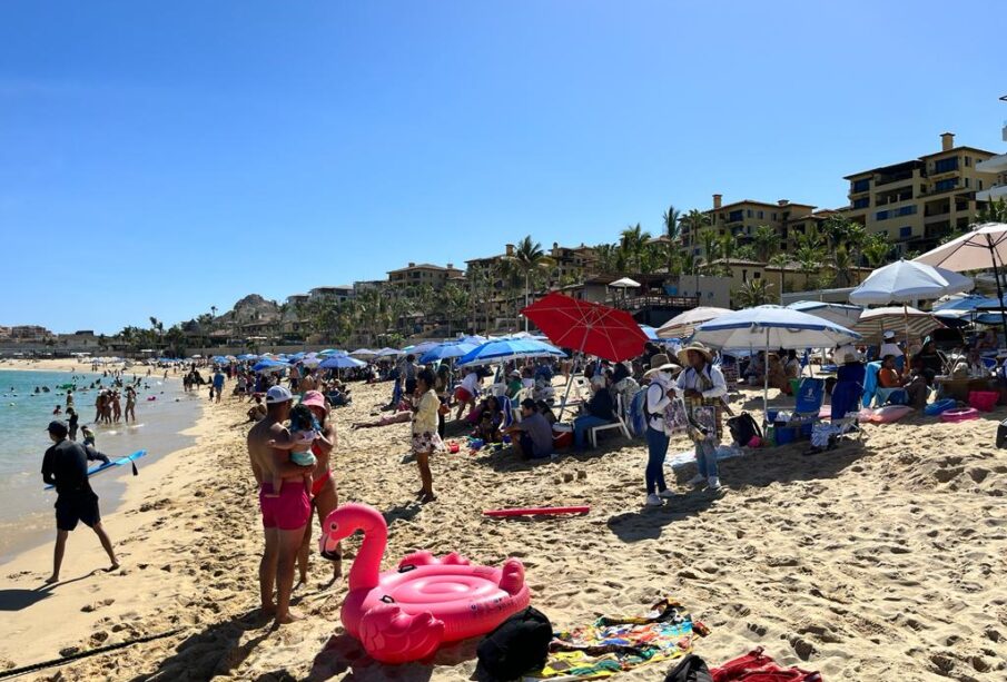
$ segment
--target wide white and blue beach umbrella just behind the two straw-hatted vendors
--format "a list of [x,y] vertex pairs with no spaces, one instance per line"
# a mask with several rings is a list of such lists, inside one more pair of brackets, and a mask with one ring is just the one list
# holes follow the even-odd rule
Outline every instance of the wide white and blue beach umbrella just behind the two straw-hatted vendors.
[[[757,306],[722,315],[697,327],[692,339],[721,350],[831,348],[860,339],[833,322],[782,306]],[[769,372],[762,386],[762,419],[769,406]]]

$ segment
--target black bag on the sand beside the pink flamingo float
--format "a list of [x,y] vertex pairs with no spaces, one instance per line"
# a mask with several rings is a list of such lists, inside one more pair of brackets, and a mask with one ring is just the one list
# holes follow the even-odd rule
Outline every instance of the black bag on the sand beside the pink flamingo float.
[[476,655],[493,679],[514,680],[545,666],[551,641],[552,623],[541,611],[529,606],[487,634],[480,642]]

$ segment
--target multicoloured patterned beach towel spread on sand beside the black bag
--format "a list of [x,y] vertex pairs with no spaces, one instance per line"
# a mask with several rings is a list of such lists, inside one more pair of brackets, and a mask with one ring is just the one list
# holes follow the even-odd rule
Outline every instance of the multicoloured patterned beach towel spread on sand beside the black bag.
[[553,633],[549,662],[525,680],[596,680],[692,651],[693,637],[709,631],[684,607],[662,600],[642,616],[602,616],[593,624]]

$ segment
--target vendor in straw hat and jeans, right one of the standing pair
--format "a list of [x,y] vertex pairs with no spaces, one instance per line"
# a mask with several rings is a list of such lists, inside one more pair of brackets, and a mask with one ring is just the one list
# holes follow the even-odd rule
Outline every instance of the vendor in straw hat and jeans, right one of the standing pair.
[[695,464],[699,473],[690,481],[693,485],[703,482],[710,490],[720,487],[717,475],[717,446],[720,444],[723,413],[723,396],[728,392],[727,382],[720,368],[713,365],[713,354],[704,345],[693,342],[679,350],[679,360],[685,369],[675,384],[685,398],[689,415],[689,437],[695,445]]

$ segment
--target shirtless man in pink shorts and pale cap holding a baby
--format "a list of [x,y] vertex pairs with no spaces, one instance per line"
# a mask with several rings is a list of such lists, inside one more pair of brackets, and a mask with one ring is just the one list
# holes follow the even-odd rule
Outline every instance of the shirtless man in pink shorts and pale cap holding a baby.
[[[303,480],[312,467],[290,462],[282,446],[293,442],[283,423],[290,414],[294,396],[283,386],[266,392],[266,418],[248,432],[248,456],[251,473],[259,485],[259,508],[266,546],[259,562],[259,594],[261,609],[272,614],[277,624],[293,623],[300,616],[290,611],[294,590],[294,569],[304,540],[305,526],[312,516],[312,504]],[[277,447],[279,446],[279,447]],[[273,478],[283,480],[278,495]],[[277,600],[273,601],[276,586]]]

